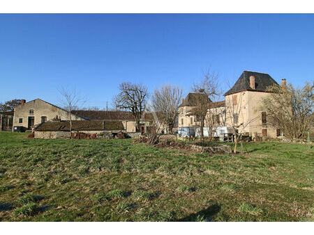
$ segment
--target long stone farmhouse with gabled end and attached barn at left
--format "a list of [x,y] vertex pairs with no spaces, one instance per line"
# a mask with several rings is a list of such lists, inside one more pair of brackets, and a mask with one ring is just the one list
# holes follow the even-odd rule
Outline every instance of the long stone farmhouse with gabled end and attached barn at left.
[[[106,129],[106,124],[112,121],[121,122],[119,131],[126,131],[133,133],[135,129],[135,120],[132,113],[127,111],[72,111],[71,113],[59,108],[53,104],[43,101],[42,99],[34,99],[30,102],[22,100],[22,104],[14,108],[13,115],[13,131],[25,131],[27,129],[36,129],[43,131],[46,128],[49,131],[65,131],[67,126],[66,122],[73,120],[74,124],[78,124],[78,127],[73,125],[79,131],[104,131],[111,130]],[[140,120],[140,133],[144,134],[151,128],[151,122],[154,119],[152,113],[144,113],[142,120]],[[90,122],[99,121],[99,122]],[[52,124],[52,122],[54,124]],[[56,124],[59,122],[59,124]],[[44,124],[50,123],[50,124]],[[83,124],[84,123],[84,124]],[[98,123],[94,125],[93,123]],[[105,124],[104,124],[105,123]],[[81,127],[84,126],[85,130]],[[105,126],[104,126],[105,125]],[[40,127],[42,126],[42,127]],[[90,126],[90,127],[89,127]],[[63,129],[59,129],[63,127]],[[95,129],[95,128],[98,129]],[[163,131],[161,129],[160,131]]]

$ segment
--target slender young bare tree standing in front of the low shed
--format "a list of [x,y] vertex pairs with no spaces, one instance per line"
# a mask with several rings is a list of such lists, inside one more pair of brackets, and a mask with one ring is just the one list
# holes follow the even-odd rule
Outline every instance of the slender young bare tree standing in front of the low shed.
[[70,136],[72,133],[72,115],[73,111],[79,109],[80,105],[84,104],[84,100],[77,94],[76,90],[69,90],[66,88],[59,88],[59,93],[61,95],[61,106],[68,111],[68,118],[70,121]]

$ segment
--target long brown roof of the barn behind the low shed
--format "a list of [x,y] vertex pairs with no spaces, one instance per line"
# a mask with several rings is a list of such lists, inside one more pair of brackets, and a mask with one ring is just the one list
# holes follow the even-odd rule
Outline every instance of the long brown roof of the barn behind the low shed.
[[[76,110],[73,114],[89,120],[134,120],[134,116],[128,111],[91,111],[91,110]],[[143,120],[151,120],[151,113],[144,113]]]

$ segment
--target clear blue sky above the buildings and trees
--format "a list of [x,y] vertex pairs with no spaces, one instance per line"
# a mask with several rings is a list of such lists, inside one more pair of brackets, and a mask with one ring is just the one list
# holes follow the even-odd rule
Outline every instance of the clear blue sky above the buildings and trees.
[[224,92],[244,70],[302,86],[314,78],[314,15],[0,14],[0,102],[112,104],[119,83],[190,92],[207,69]]

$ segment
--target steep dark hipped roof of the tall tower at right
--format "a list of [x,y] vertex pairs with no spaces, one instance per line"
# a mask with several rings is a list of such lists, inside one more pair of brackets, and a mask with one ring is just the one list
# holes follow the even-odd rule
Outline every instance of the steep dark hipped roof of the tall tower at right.
[[[255,77],[255,89],[250,87],[250,76]],[[261,72],[251,72],[244,71],[234,86],[225,92],[225,95],[230,95],[235,92],[239,92],[242,90],[256,90],[256,91],[265,91],[267,86],[278,85],[276,81],[269,76],[269,74],[263,74]]]

